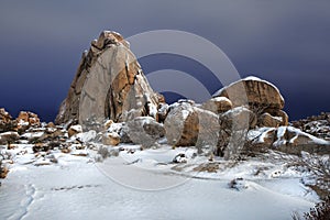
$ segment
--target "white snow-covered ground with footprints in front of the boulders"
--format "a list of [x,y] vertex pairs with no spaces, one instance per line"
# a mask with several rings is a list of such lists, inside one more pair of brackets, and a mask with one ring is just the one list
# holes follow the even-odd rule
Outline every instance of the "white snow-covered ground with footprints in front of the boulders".
[[[209,162],[194,148],[166,145],[121,145],[119,156],[95,162],[94,150],[43,155],[31,146],[2,150],[13,158],[4,161],[10,173],[1,180],[0,219],[278,220],[318,201],[300,183],[305,174],[283,162]],[[179,153],[186,163],[172,162]],[[216,169],[201,169],[208,165]]]

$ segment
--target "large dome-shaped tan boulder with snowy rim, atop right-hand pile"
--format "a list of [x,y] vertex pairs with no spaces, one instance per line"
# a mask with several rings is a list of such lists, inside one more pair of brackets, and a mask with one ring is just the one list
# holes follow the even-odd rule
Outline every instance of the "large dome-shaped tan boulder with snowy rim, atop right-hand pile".
[[271,82],[256,77],[248,77],[224,87],[215,97],[227,97],[233,107],[246,105],[252,108],[283,109],[284,99],[279,90]]

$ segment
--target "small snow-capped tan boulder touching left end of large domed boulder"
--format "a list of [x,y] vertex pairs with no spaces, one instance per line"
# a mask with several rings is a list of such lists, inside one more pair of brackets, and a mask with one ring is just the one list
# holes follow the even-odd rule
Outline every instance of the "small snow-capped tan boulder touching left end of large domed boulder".
[[215,97],[206,101],[201,108],[219,114],[232,109],[232,102],[227,97]]

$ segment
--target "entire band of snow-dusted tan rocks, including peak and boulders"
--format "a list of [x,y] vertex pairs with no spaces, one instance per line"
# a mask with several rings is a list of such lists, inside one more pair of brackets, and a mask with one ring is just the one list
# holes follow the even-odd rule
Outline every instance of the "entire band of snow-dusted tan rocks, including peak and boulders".
[[[0,145],[26,143],[36,153],[52,148],[70,153],[91,141],[112,146],[133,143],[141,148],[167,144],[227,158],[246,145],[295,154],[330,153],[329,141],[299,130],[317,133],[314,122],[288,127],[284,105],[279,90],[256,77],[232,82],[204,103],[166,103],[148,85],[129,43],[116,32],[103,31],[82,54],[56,125],[41,123],[32,112],[22,111],[13,119],[0,109]],[[329,134],[329,116],[319,121]]]

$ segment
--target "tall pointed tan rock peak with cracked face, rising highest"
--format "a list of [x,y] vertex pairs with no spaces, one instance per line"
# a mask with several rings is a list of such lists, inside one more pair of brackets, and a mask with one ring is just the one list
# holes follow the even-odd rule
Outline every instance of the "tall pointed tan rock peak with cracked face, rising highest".
[[150,87],[129,43],[120,34],[105,31],[82,54],[56,123],[78,120],[87,127],[107,118],[127,121],[132,110],[134,117],[156,118],[157,108],[158,96]]

